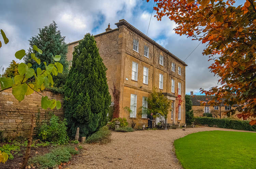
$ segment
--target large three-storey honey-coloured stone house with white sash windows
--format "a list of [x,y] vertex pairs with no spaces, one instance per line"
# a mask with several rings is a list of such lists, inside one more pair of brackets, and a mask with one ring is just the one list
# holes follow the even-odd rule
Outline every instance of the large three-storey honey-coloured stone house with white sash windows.
[[[94,35],[106,72],[109,92],[112,97],[113,84],[120,91],[120,114],[128,123],[136,119],[137,126],[147,124],[146,115],[140,114],[142,107],[147,107],[145,98],[150,97],[153,87],[163,92],[172,100],[173,111],[168,114],[167,123],[185,123],[185,62],[157,44],[154,40],[134,28],[126,20],[110,24],[106,31]],[[74,41],[68,45],[68,61],[72,61],[74,48],[79,45]],[[182,103],[178,105],[177,96]],[[123,107],[130,107],[129,114]],[[176,112],[176,113],[173,113]],[[173,120],[176,119],[176,120]],[[161,119],[156,119],[155,123]]]

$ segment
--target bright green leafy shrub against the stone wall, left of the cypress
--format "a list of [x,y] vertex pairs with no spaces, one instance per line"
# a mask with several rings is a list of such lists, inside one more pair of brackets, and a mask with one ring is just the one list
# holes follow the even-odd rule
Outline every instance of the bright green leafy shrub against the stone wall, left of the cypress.
[[57,142],[58,144],[65,144],[68,142],[67,135],[67,120],[60,121],[55,115],[52,115],[49,125],[44,123],[39,129],[39,139],[46,141]]

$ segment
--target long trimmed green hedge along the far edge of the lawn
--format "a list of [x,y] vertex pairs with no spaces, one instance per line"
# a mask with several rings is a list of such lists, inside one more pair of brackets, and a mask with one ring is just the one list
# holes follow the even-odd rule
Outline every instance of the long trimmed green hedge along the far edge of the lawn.
[[195,117],[195,125],[216,125],[218,128],[256,131],[256,125],[250,125],[247,120],[233,120],[229,118],[214,119],[211,117]]

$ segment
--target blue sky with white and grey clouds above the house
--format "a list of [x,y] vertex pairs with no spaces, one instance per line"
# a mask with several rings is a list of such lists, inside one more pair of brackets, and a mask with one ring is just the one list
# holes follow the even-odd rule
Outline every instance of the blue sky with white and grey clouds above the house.
[[[66,43],[82,39],[87,32],[94,35],[105,32],[109,23],[115,29],[115,23],[120,19],[125,19],[146,34],[153,6],[152,0],[148,3],[146,0],[1,1],[0,29],[4,30],[9,43],[3,43],[0,49],[0,74],[12,60],[21,62],[15,58],[15,52],[21,49],[27,51],[28,39],[37,35],[39,28],[49,25],[53,20],[61,35],[66,36]],[[168,18],[157,21],[154,15],[155,11],[147,36],[184,61],[200,42],[176,35],[173,31],[174,22]],[[2,37],[0,39],[3,42]],[[204,48],[205,44],[200,44],[185,60],[188,65],[186,94],[190,94],[190,91],[199,94],[201,87],[209,89],[217,85],[217,77],[208,69],[212,62],[208,62],[208,56],[202,55]]]

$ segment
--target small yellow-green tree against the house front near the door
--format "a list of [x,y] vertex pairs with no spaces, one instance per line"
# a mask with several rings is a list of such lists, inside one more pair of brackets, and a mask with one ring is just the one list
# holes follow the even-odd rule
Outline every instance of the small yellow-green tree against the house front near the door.
[[153,113],[153,117],[165,117],[171,110],[171,100],[168,100],[163,94],[162,91],[156,91],[157,88],[153,88],[153,92],[150,98],[147,98],[147,104],[149,106],[149,114]]

